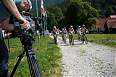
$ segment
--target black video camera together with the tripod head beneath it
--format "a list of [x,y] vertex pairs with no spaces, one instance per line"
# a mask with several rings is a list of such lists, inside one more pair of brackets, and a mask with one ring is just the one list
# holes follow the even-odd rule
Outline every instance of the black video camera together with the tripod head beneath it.
[[[17,20],[14,16],[10,17],[10,24],[13,24],[14,31],[13,36],[19,37],[22,45],[28,47],[32,47],[32,42],[34,41],[34,33],[35,33],[35,24],[31,18],[31,14],[29,12],[22,12],[21,15],[29,21],[30,29],[26,30],[22,28],[21,24],[23,23],[20,20]],[[29,48],[30,49],[30,48]]]

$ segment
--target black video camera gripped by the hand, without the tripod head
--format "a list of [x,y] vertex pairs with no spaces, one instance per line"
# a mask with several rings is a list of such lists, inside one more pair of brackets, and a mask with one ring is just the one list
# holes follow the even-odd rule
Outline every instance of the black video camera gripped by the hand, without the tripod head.
[[21,24],[23,23],[23,21],[18,20],[16,17],[14,17],[13,15],[10,17],[10,24],[13,24],[14,27],[14,31],[17,33],[18,31],[22,31],[25,30],[26,32],[33,34],[35,32],[35,24],[33,23],[33,19],[31,18],[31,14],[29,12],[21,12],[21,15],[29,21],[30,24],[30,29],[26,30],[24,29]]

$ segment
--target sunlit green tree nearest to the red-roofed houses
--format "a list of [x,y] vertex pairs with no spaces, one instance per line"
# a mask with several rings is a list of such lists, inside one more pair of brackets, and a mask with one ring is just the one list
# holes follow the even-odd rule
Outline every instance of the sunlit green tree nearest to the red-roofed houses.
[[90,5],[90,3],[83,2],[82,4],[83,11],[81,17],[83,17],[84,19],[82,18],[81,20],[83,20],[83,23],[89,25],[89,27],[91,28],[91,26],[96,23],[96,19],[97,17],[99,17],[99,13]]

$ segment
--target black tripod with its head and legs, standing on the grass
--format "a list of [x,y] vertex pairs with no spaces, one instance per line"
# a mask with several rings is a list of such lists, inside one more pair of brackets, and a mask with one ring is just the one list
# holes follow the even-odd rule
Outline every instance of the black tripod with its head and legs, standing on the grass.
[[28,31],[25,29],[21,29],[19,21],[15,20],[15,18],[13,18],[13,21],[13,24],[16,27],[17,36],[20,38],[24,51],[18,56],[18,60],[11,72],[10,77],[14,76],[14,73],[22,58],[24,57],[24,54],[26,54],[27,57],[31,77],[42,77],[35,52],[32,49],[33,37],[30,34],[31,29]]

